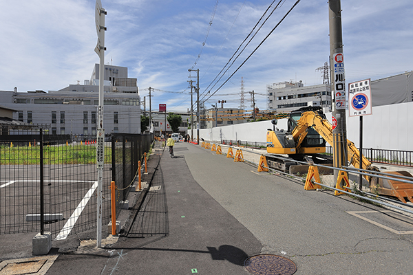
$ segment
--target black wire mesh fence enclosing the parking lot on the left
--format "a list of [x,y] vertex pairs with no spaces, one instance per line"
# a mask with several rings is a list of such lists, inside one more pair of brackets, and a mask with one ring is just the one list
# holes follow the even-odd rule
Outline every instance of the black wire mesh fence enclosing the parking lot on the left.
[[[41,142],[40,133],[26,129],[18,135],[0,135],[0,234],[44,229],[54,239],[65,239],[96,228],[96,135],[44,134]],[[103,225],[111,218],[110,182],[116,182],[119,205],[152,140],[152,135],[121,133],[105,137]]]

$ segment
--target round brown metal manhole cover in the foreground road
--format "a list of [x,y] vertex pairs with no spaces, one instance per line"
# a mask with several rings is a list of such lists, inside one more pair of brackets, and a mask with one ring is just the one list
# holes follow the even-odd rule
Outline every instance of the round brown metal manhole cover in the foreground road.
[[244,267],[252,274],[262,275],[292,275],[297,271],[297,266],[290,259],[271,254],[249,257]]

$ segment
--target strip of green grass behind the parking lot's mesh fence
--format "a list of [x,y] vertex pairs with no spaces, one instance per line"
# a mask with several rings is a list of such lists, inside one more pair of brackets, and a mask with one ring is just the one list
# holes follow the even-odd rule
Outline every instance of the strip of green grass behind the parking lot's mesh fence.
[[[92,145],[45,146],[45,164],[96,164]],[[112,162],[112,148],[105,147],[105,163]],[[40,146],[0,146],[0,165],[40,164]]]

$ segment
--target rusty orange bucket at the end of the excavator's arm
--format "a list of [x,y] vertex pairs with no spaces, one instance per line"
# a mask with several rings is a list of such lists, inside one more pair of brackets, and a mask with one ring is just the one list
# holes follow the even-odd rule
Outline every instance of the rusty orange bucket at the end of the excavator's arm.
[[[385,173],[389,174],[389,177],[392,177],[392,175],[412,177],[413,181],[413,176],[407,171],[389,171]],[[397,177],[394,177],[394,179],[372,177],[370,187],[376,189],[379,195],[397,197],[400,201],[403,201],[403,203],[406,203],[405,197],[407,197],[407,199],[413,203],[413,184],[401,182]]]

